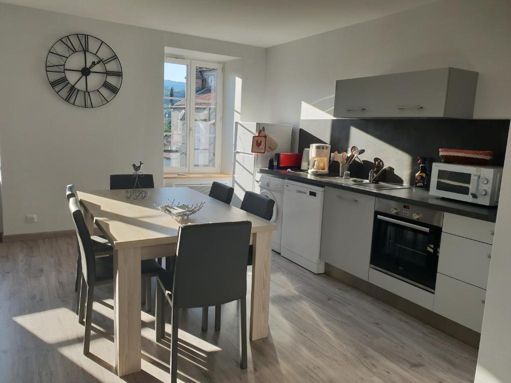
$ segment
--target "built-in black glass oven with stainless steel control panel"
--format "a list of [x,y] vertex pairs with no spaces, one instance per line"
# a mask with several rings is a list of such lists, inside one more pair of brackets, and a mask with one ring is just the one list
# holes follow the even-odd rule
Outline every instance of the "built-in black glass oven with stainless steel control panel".
[[444,213],[377,198],[370,268],[435,291]]

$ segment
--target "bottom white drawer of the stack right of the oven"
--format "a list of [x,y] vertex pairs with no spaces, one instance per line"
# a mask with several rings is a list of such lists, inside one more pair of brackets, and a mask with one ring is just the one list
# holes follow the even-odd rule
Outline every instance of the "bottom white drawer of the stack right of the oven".
[[486,290],[443,274],[436,275],[433,311],[481,332]]

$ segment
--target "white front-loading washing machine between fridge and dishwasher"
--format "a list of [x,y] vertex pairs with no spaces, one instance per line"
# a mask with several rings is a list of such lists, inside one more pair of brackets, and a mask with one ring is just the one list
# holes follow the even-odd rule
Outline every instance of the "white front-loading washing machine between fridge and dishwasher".
[[273,205],[273,215],[271,222],[278,225],[273,231],[271,238],[271,248],[277,253],[281,252],[282,240],[282,208],[284,206],[284,181],[281,178],[271,177],[266,174],[258,174],[256,182],[259,186],[259,194],[267,196],[275,201]]

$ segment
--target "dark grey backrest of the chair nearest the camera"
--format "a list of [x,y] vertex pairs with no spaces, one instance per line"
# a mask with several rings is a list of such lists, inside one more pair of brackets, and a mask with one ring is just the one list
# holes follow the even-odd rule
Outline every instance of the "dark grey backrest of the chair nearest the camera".
[[250,221],[179,228],[172,305],[206,307],[247,294]]

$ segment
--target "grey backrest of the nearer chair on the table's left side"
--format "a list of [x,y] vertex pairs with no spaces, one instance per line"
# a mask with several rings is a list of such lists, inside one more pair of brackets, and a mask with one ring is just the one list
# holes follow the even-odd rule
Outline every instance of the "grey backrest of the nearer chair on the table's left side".
[[83,218],[80,203],[76,197],[69,199],[69,211],[73,216],[75,224],[76,235],[78,237],[78,246],[80,248],[80,258],[82,263],[82,273],[87,285],[94,283],[96,279],[96,261],[94,254],[94,247],[92,247],[92,240]]

